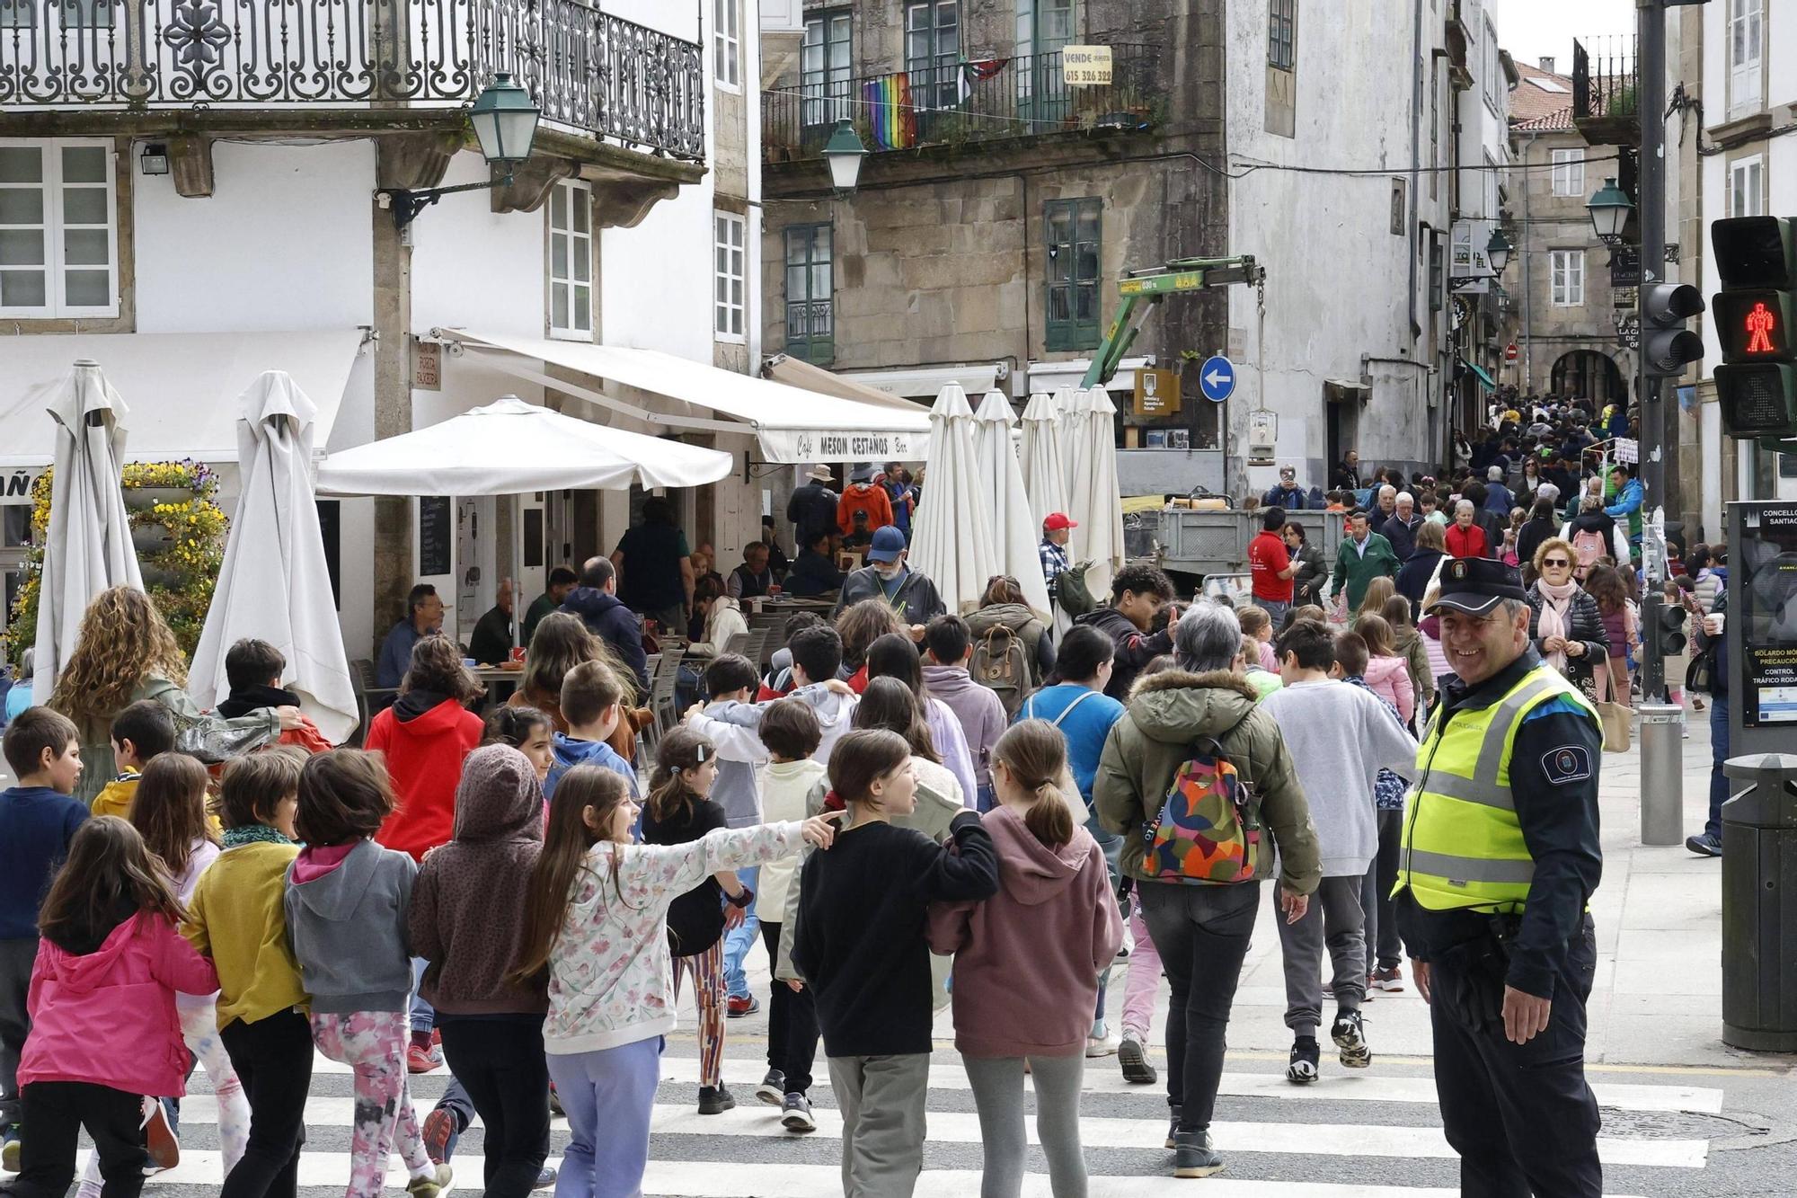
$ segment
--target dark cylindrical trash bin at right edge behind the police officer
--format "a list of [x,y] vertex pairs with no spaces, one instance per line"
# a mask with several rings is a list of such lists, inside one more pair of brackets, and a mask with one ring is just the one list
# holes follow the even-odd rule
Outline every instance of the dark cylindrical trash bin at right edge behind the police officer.
[[1797,1052],[1797,755],[1731,757],[1722,804],[1722,1038]]

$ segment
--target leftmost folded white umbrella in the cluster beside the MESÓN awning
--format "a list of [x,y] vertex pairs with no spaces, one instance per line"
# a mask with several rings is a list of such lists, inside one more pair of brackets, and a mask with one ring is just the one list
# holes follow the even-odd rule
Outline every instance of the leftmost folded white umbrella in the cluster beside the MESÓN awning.
[[979,606],[1001,561],[987,487],[974,450],[974,410],[960,383],[949,383],[929,410],[929,486],[911,520],[911,568],[929,577],[951,612]]

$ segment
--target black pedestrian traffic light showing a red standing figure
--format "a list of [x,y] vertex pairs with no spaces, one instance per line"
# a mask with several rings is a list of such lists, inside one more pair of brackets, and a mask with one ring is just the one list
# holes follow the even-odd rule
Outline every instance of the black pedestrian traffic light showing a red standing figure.
[[1797,437],[1797,248],[1792,223],[1734,216],[1709,228],[1722,291],[1714,297],[1716,399],[1731,437]]

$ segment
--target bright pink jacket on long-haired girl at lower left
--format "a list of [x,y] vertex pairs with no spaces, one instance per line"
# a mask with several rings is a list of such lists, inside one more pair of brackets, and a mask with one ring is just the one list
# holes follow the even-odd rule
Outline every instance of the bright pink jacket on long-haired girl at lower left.
[[126,1094],[185,1094],[187,1047],[174,991],[210,995],[217,970],[169,919],[138,912],[92,953],[38,941],[18,1083],[92,1081]]

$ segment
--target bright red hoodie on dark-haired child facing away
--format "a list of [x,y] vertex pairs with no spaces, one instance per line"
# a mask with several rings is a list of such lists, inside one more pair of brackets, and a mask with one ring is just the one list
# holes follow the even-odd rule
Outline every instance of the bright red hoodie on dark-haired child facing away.
[[368,725],[368,752],[386,754],[399,806],[374,835],[388,849],[424,854],[455,835],[455,788],[462,759],[480,745],[480,716],[455,700],[444,700],[410,720],[404,694]]

